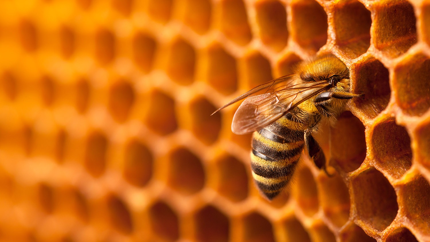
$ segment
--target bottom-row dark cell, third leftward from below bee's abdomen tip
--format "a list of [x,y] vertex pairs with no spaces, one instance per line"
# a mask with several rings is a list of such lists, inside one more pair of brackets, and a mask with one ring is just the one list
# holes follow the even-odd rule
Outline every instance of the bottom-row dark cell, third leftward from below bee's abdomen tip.
[[179,238],[179,220],[175,211],[164,202],[156,202],[148,211],[152,231],[161,239],[175,241]]

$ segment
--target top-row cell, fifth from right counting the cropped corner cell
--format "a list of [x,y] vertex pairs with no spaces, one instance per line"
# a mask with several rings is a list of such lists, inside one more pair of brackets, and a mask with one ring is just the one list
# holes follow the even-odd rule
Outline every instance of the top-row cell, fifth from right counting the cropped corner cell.
[[277,0],[269,0],[256,2],[255,10],[261,42],[281,51],[288,40],[286,7]]

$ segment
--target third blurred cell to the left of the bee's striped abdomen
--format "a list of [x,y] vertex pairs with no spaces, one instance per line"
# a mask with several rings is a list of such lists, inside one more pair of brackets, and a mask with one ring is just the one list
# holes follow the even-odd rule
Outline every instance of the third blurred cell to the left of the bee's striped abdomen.
[[130,141],[124,151],[124,179],[137,187],[143,187],[151,179],[153,155],[140,141]]

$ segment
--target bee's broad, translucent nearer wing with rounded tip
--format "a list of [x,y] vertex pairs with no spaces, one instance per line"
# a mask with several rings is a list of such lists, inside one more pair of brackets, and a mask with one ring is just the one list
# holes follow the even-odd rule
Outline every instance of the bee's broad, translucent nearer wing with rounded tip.
[[243,135],[263,129],[328,87],[326,81],[319,81],[246,98],[234,113],[231,130],[237,135]]

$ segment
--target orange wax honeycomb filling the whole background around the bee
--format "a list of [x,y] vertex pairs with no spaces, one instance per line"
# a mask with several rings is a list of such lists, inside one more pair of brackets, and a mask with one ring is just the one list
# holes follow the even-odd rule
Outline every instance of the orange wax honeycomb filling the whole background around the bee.
[[[430,241],[427,0],[0,1],[2,241]],[[332,53],[364,92],[272,202],[232,98]],[[235,106],[237,107],[237,105]]]

